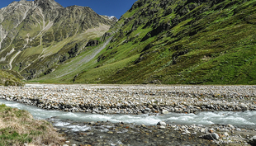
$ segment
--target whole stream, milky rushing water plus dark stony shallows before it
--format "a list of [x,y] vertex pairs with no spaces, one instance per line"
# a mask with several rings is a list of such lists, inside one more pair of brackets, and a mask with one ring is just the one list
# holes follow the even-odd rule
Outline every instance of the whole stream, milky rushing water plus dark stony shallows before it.
[[[205,139],[198,139],[198,135],[193,138],[184,136],[180,139],[183,134],[179,134],[176,131],[171,134],[159,129],[154,130],[154,126],[159,121],[164,121],[169,125],[235,125],[245,129],[256,128],[256,111],[215,111],[199,112],[197,114],[168,113],[167,115],[97,115],[47,111],[36,106],[27,106],[17,101],[2,99],[0,99],[0,104],[29,111],[37,120],[49,120],[59,129],[60,133],[68,137],[71,144],[77,145],[208,145],[206,143],[211,143]],[[99,123],[98,121],[104,121],[104,123]],[[92,122],[95,124],[88,124]],[[148,128],[143,128],[141,125],[145,125]],[[126,130],[121,126],[130,127],[130,129]],[[111,127],[113,128],[111,129]],[[128,132],[128,130],[132,132]],[[109,136],[109,134],[112,134],[112,136]],[[152,135],[149,136],[150,134]],[[164,135],[162,137],[164,140],[162,141],[159,140],[161,138],[159,135],[161,134]],[[141,135],[143,136],[140,138]]]

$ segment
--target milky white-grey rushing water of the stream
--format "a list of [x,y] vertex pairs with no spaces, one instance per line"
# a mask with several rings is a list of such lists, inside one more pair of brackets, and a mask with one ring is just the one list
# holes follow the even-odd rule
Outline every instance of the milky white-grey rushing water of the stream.
[[57,117],[59,122],[56,122],[56,126],[64,126],[72,128],[73,130],[86,130],[86,127],[73,126],[69,127],[69,123],[64,123],[61,120],[75,120],[75,121],[111,121],[135,123],[144,125],[156,125],[159,121],[165,121],[169,124],[179,125],[237,125],[237,126],[250,126],[256,127],[256,111],[216,111],[216,112],[200,112],[195,114],[178,114],[169,113],[167,115],[97,115],[97,114],[85,114],[85,113],[72,113],[64,111],[47,111],[40,109],[36,106],[26,106],[16,101],[5,101],[0,99],[0,103],[7,106],[17,107],[21,110],[31,112],[35,119],[47,119],[50,117]]

